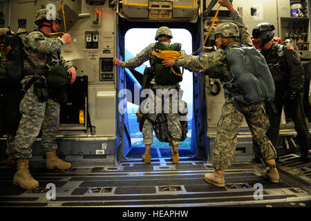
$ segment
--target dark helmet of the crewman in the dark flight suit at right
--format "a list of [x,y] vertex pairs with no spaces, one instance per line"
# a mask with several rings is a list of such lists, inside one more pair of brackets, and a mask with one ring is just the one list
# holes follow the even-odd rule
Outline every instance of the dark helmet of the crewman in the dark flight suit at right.
[[273,39],[275,34],[274,30],[274,25],[272,25],[271,23],[258,23],[258,25],[256,25],[253,29],[252,35],[254,39],[261,37],[261,39],[263,39],[263,43],[261,44],[261,46],[264,46],[265,44],[267,44],[267,42]]

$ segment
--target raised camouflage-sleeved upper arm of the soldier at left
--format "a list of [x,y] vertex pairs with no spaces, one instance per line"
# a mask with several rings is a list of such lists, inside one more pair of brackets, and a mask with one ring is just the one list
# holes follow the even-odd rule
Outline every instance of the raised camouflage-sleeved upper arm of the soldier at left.
[[23,44],[26,48],[32,48],[41,53],[51,53],[60,50],[66,44],[64,39],[57,37],[46,37],[42,32],[30,32],[24,39]]

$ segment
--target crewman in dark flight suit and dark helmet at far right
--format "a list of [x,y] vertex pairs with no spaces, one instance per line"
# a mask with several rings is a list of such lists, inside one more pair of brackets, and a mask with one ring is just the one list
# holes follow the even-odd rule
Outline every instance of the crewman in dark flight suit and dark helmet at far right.
[[301,101],[303,93],[303,66],[296,50],[291,44],[282,46],[272,41],[274,26],[270,23],[259,23],[252,32],[254,44],[261,47],[275,84],[274,107],[266,104],[266,113],[270,120],[267,137],[276,146],[279,140],[279,128],[282,108],[285,106],[295,125],[301,151],[301,160],[310,162],[310,133]]

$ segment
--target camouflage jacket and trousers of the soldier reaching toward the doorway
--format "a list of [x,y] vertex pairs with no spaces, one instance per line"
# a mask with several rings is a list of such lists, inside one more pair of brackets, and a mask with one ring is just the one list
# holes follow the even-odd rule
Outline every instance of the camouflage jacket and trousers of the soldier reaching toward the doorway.
[[[236,26],[238,26],[240,40],[232,42],[229,46],[232,46],[233,44],[248,44],[249,46],[252,46],[252,41],[247,32],[247,26],[245,26],[243,18],[238,15],[236,10],[232,12],[230,16],[234,20],[234,23],[236,23]],[[227,30],[227,36],[230,36],[230,32],[233,33],[235,30]],[[196,72],[200,70],[211,70],[216,73],[216,76],[213,77],[219,78],[223,82],[227,82],[229,79],[229,67],[227,66],[226,53],[222,48],[218,48],[216,52],[201,56],[185,57],[177,60],[175,65]],[[225,91],[225,96],[225,104],[223,105],[217,127],[218,132],[216,135],[216,148],[214,150],[213,159],[215,169],[227,169],[232,164],[236,150],[238,128],[243,122],[243,116],[252,132],[254,142],[256,142],[260,148],[260,153],[263,156],[263,159],[275,159],[276,151],[274,146],[270,140],[267,140],[265,135],[265,132],[270,125],[263,109],[263,102],[249,106],[241,104],[241,108],[247,113],[243,114],[237,110],[234,104],[232,104],[229,91],[227,91],[227,93]]]

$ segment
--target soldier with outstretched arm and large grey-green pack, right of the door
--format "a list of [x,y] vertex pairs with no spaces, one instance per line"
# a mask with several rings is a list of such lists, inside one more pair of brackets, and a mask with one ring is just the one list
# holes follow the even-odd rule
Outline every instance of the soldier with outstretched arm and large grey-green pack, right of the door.
[[[276,169],[275,159],[276,151],[274,146],[267,139],[265,132],[269,128],[269,120],[263,109],[263,102],[244,105],[234,102],[234,92],[227,86],[230,83],[230,69],[227,66],[227,56],[225,50],[231,46],[247,44],[252,46],[252,41],[247,32],[247,26],[243,18],[232,7],[229,0],[220,0],[218,3],[225,6],[232,17],[234,23],[220,23],[215,29],[217,50],[202,56],[191,56],[174,60],[164,60],[164,66],[176,65],[182,66],[191,71],[204,72],[205,70],[214,71],[216,76],[224,82],[225,86],[225,104],[218,122],[216,143],[213,157],[215,168],[214,173],[206,173],[205,181],[215,186],[225,186],[225,169],[227,169],[234,160],[236,150],[238,128],[245,117],[249,129],[252,132],[253,140],[258,144],[261,155],[265,160],[267,171],[263,171],[263,176],[271,182],[279,182],[279,173]],[[240,40],[238,40],[238,37]],[[209,75],[209,73],[207,73]],[[241,110],[241,111],[239,111]]]

